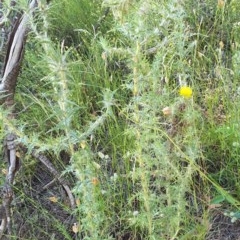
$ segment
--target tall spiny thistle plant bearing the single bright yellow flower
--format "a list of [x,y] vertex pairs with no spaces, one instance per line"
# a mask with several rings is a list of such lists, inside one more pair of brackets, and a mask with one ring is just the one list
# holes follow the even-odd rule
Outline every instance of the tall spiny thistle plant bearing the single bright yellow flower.
[[[177,95],[172,97],[170,93],[174,86],[171,79],[189,75],[189,66],[184,60],[187,42],[184,10],[178,1],[163,3],[158,11],[155,10],[158,3],[153,1],[140,1],[134,8],[126,2],[118,4],[112,10],[119,23],[117,31],[123,35],[126,54],[131,59],[126,86],[131,87],[132,98],[125,111],[132,124],[126,133],[134,136],[135,144],[126,161],[132,163],[128,173],[133,184],[132,199],[139,202],[137,207],[131,201],[128,203],[130,212],[138,212],[129,224],[145,239],[175,239],[182,224],[186,224],[185,196],[195,172],[194,161],[200,154],[198,114],[194,110],[192,89],[180,89],[180,95],[191,98],[189,101]],[[123,17],[121,21],[118,21],[119,15]],[[148,56],[152,49],[155,50],[153,56]],[[179,76],[174,76],[174,72]],[[161,84],[161,79],[165,84]],[[164,119],[159,116],[160,109],[167,104],[175,109],[169,122],[171,131],[164,127]],[[184,163],[184,155],[191,162]],[[171,219],[170,225],[166,219]]]

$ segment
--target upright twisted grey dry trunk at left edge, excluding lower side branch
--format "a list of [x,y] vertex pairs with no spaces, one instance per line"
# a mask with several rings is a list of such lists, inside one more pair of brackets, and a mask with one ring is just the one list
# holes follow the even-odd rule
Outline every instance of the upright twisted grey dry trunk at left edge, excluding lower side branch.
[[[30,3],[29,13],[32,14],[34,8],[37,6],[37,1],[33,0]],[[20,16],[15,23],[15,26],[10,34],[7,54],[5,57],[3,77],[0,83],[0,95],[1,104],[4,104],[6,108],[9,108],[9,119],[14,117],[12,106],[14,104],[14,92],[17,84],[17,77],[20,71],[20,65],[23,57],[25,38],[27,34],[27,23],[29,21],[29,13],[25,13]],[[6,131],[9,131],[6,128]],[[20,160],[16,156],[16,136],[10,133],[5,138],[5,158],[8,162],[8,172],[5,180],[5,184],[1,191],[2,205],[1,209],[1,227],[0,227],[0,239],[7,228],[9,235],[12,234],[12,219],[11,219],[11,202],[13,198],[12,184],[14,176],[18,171]]]

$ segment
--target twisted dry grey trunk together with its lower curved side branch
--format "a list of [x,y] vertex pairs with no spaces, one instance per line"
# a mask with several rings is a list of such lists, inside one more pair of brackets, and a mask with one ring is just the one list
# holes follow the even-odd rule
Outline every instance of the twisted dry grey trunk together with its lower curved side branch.
[[[21,61],[23,59],[24,45],[28,33],[29,18],[31,14],[33,14],[37,3],[37,0],[32,0],[30,2],[29,11],[18,17],[9,35],[2,79],[0,82],[0,104],[4,105],[4,107],[9,111],[7,121],[11,121],[15,117],[13,113],[14,93],[21,67]],[[13,199],[12,185],[15,174],[20,167],[20,159],[16,155],[16,140],[19,136],[17,136],[18,134],[14,132],[14,129],[9,128],[7,123],[5,130],[8,132],[4,141],[4,156],[5,161],[8,163],[8,172],[4,186],[1,188],[2,204],[0,205],[0,239],[2,239],[2,236],[5,232],[7,232],[9,235],[12,235],[12,216],[10,211]],[[23,146],[22,148],[26,149],[26,146]],[[31,154],[38,161],[43,163],[47,167],[48,171],[53,175],[54,180],[58,180],[58,182],[62,185],[68,195],[71,207],[74,208],[75,200],[71,190],[61,177],[60,173],[55,169],[51,161],[49,161],[44,154],[39,153],[36,149],[33,149]]]

